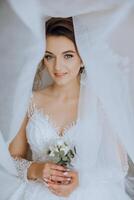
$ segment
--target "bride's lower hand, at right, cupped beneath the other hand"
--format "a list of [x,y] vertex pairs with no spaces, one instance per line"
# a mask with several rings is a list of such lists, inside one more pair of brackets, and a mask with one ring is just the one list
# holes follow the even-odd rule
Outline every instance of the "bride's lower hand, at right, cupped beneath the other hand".
[[48,183],[48,188],[56,195],[68,197],[79,185],[78,173],[75,171],[66,172],[71,178],[69,184]]

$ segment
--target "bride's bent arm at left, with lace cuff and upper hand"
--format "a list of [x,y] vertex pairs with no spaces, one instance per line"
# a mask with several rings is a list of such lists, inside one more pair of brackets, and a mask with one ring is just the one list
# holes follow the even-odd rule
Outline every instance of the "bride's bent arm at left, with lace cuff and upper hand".
[[[49,183],[67,182],[69,177],[64,175],[67,171],[65,167],[50,162],[38,163],[26,159],[29,146],[26,138],[27,122],[28,117],[25,116],[18,134],[9,144],[9,151],[15,162],[18,176],[24,181],[41,179]],[[50,176],[51,180],[49,180]]]

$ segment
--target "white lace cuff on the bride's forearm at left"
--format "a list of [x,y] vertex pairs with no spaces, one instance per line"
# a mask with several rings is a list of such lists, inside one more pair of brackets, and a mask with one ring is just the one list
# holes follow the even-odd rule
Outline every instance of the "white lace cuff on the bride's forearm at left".
[[27,171],[30,165],[32,164],[32,161],[28,161],[20,157],[12,157],[12,159],[15,163],[15,167],[18,172],[18,177],[24,182],[28,182]]

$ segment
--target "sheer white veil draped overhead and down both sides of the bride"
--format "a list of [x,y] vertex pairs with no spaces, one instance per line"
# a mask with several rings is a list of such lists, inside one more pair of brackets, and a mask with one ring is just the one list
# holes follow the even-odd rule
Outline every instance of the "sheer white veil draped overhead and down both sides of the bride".
[[[76,43],[86,68],[79,109],[85,126],[80,126],[79,131],[89,138],[83,155],[88,146],[92,149],[88,152],[88,170],[95,165],[102,167],[104,163],[101,156],[97,157],[98,150],[106,152],[105,148],[114,146],[117,137],[134,162],[134,3],[85,0],[73,1],[70,6],[66,0],[59,4],[54,0],[1,0],[0,195],[4,200],[19,184],[8,143],[17,134],[27,110],[37,64],[44,55],[44,24],[50,16],[73,16]],[[101,129],[105,123],[101,123],[101,115],[97,118],[97,104],[102,105],[111,128],[105,131],[112,130],[112,139]],[[107,151],[105,158],[109,155],[109,165],[116,160],[115,168],[120,167],[120,159],[113,149]],[[5,190],[7,187],[9,192]]]

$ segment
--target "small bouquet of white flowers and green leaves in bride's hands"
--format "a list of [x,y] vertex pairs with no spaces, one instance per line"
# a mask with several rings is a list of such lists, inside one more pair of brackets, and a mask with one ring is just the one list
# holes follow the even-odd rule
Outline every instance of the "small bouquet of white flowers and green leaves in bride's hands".
[[64,166],[71,166],[76,156],[76,147],[69,141],[56,139],[48,146],[47,157],[49,160]]

